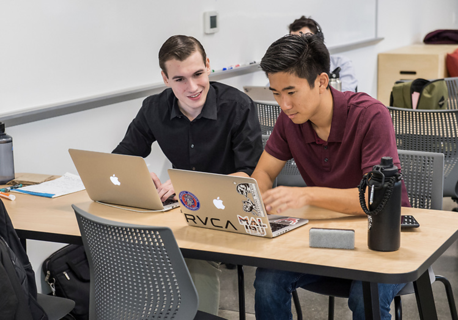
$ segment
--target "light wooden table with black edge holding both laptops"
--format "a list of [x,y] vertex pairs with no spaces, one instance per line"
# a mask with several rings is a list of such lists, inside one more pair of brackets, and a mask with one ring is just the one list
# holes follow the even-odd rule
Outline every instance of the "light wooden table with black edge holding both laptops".
[[[421,319],[437,319],[428,267],[458,238],[458,215],[448,211],[403,208],[420,228],[402,232],[401,248],[379,252],[367,247],[367,218],[348,216],[316,207],[291,210],[289,214],[309,219],[309,224],[273,239],[190,227],[179,209],[165,213],[135,213],[111,208],[89,199],[85,191],[54,199],[16,193],[4,200],[13,225],[22,239],[82,244],[71,204],[106,219],[168,226],[183,256],[268,267],[363,281],[366,319],[380,319],[376,283],[414,282]],[[309,247],[309,229],[355,230],[355,249]]]

